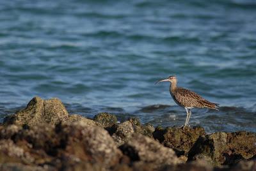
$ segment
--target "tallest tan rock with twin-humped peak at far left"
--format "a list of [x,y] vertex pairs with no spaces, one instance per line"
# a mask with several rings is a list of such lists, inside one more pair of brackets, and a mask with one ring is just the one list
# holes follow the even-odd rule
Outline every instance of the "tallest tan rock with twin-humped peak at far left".
[[58,98],[42,100],[35,97],[26,108],[6,117],[4,124],[34,126],[39,123],[58,124],[65,119],[68,119],[68,112]]

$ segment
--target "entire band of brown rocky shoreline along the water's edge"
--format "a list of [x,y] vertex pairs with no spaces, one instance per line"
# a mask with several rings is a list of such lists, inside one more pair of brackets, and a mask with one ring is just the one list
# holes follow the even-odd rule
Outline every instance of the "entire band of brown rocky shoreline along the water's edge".
[[0,170],[256,170],[256,133],[88,119],[35,97],[0,126]]

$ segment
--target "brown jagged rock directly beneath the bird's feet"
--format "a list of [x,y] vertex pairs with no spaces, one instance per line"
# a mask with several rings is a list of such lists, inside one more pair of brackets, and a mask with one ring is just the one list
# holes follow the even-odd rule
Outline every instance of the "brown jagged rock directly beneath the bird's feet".
[[164,146],[172,148],[180,156],[186,155],[196,140],[205,135],[205,131],[202,127],[157,128],[153,135]]

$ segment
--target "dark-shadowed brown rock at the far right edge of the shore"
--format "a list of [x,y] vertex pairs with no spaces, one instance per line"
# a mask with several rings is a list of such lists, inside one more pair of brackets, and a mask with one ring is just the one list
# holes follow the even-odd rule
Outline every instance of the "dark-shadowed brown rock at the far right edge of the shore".
[[256,134],[245,131],[212,133],[200,137],[191,148],[188,160],[204,159],[218,165],[234,165],[256,154]]

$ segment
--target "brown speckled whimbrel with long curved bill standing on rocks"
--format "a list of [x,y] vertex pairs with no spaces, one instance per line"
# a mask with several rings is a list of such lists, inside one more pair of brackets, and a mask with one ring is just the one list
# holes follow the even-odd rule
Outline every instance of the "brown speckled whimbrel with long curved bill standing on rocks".
[[187,118],[183,128],[188,126],[188,121],[191,116],[191,108],[211,108],[218,110],[216,108],[219,106],[218,103],[211,103],[193,91],[184,89],[182,87],[177,87],[177,78],[175,76],[170,76],[164,80],[159,80],[156,82],[156,84],[158,82],[170,82],[170,94],[172,95],[173,100],[175,103],[177,103],[177,105],[186,109]]

